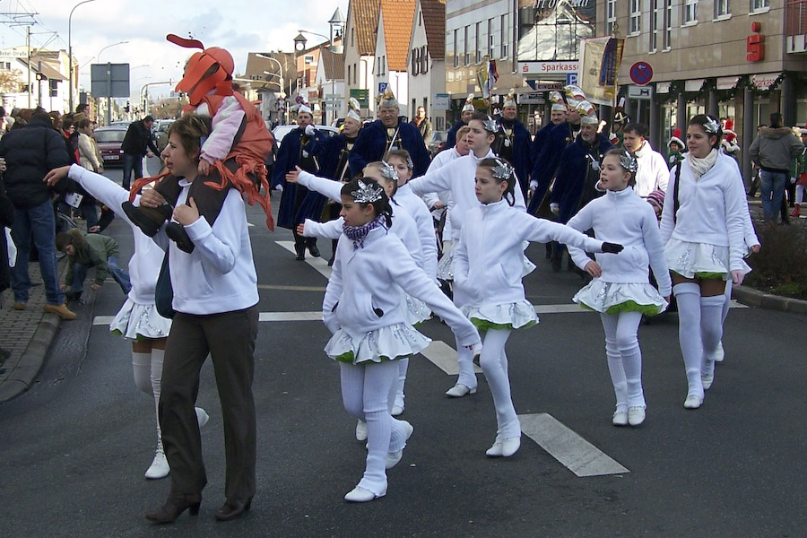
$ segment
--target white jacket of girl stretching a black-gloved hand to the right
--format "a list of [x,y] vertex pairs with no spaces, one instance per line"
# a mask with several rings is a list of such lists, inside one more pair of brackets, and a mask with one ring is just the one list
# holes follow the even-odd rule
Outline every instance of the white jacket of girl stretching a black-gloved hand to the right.
[[[516,187],[517,191],[517,187]],[[506,200],[479,204],[466,215],[454,257],[454,283],[466,304],[507,304],[524,300],[524,242],[557,240],[600,252],[603,241],[557,222],[536,219]],[[473,259],[473,265],[468,260]]]

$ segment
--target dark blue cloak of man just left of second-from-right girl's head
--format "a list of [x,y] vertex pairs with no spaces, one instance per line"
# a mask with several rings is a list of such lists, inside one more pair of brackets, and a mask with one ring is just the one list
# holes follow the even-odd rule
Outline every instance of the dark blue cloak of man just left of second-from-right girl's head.
[[[611,148],[603,134],[597,134],[594,148],[583,142],[578,134],[577,140],[563,150],[551,197],[553,204],[560,205],[558,218],[561,222],[568,222],[584,205],[581,201],[586,187],[594,187],[599,180],[603,155]],[[592,166],[594,162],[596,164]]]

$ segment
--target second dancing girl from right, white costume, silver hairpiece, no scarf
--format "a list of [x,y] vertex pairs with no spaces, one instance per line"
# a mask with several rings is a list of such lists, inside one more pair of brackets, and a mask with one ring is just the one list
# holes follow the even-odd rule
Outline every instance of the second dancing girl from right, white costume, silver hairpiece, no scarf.
[[[607,152],[598,185],[606,189],[605,195],[586,204],[567,224],[580,231],[594,229],[597,239],[625,247],[619,256],[598,254],[596,261],[579,248],[568,248],[575,265],[594,277],[573,300],[599,312],[603,321],[605,355],[616,394],[614,426],[638,426],[645,421],[638,325],[643,314],[664,311],[672,292],[655,212],[632,187],[637,168],[636,157],[627,150]],[[647,278],[648,263],[658,291]]]

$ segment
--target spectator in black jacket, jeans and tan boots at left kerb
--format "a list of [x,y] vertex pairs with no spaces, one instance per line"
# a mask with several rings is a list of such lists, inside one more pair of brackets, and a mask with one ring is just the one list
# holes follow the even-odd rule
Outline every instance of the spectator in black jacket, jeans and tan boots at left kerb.
[[70,164],[62,135],[53,128],[53,120],[39,110],[27,126],[5,134],[0,139],[0,157],[8,169],[4,178],[9,198],[14,204],[12,238],[17,246],[17,264],[12,271],[14,309],[28,305],[30,241],[39,253],[39,269],[45,282],[46,312],[63,319],[75,319],[67,309],[65,295],[56,275],[56,221],[51,203],[51,189],[42,181],[50,169]]

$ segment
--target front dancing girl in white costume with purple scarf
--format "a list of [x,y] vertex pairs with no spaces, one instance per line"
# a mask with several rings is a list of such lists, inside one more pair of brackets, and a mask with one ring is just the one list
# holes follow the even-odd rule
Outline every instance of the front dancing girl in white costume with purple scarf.
[[430,342],[406,322],[404,293],[426,302],[464,346],[482,344],[473,324],[415,265],[401,240],[387,232],[391,208],[384,189],[372,179],[356,178],[342,193],[344,233],[323,300],[323,321],[334,334],[325,352],[340,362],[345,410],[367,422],[364,475],[344,496],[366,502],[386,494],[386,469],[400,461],[412,435],[409,422],[389,412],[395,360]]

